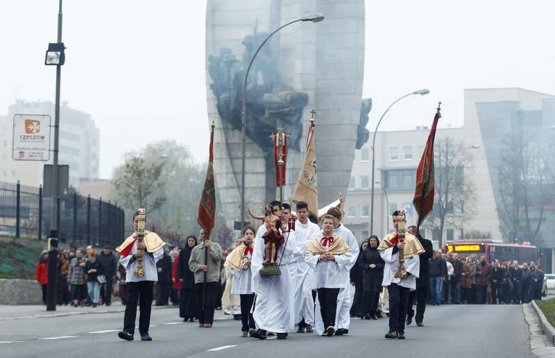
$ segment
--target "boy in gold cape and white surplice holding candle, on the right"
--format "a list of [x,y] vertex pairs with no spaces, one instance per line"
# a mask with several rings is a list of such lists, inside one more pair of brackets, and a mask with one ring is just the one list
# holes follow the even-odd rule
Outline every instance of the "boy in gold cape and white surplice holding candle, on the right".
[[[387,287],[389,293],[389,332],[385,335],[388,339],[404,339],[409,292],[416,289],[416,278],[420,274],[418,255],[424,252],[420,241],[411,234],[405,234],[404,241],[399,240],[400,221],[403,223],[401,233],[404,233],[404,212],[395,210],[393,212],[395,232],[388,234],[377,248],[385,262],[382,286]],[[403,250],[403,266],[406,271],[403,277],[398,277],[400,249]]]

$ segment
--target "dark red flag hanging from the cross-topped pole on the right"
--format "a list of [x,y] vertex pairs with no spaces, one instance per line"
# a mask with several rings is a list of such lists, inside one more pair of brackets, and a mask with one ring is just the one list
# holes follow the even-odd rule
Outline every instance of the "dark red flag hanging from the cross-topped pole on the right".
[[416,190],[414,191],[413,205],[416,212],[418,212],[418,226],[432,212],[434,207],[434,139],[436,139],[438,120],[441,118],[439,110],[440,108],[438,107],[434,123],[432,124],[432,130],[429,131],[424,153],[422,153],[418,169],[416,170]]

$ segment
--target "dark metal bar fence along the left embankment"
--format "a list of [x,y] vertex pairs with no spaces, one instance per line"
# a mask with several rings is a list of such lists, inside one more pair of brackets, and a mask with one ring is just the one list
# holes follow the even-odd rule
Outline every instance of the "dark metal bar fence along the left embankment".
[[[51,200],[42,195],[42,188],[0,182],[0,235],[44,239],[50,232]],[[58,200],[58,237],[62,243],[121,244],[125,233],[121,207],[77,193]]]

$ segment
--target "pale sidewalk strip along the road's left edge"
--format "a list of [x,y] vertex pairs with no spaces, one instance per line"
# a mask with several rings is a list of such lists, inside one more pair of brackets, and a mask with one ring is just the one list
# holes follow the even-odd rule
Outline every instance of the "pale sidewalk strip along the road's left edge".
[[[154,306],[153,309],[178,309],[174,306]],[[71,316],[74,314],[103,314],[112,312],[123,312],[126,309],[121,305],[121,302],[115,302],[111,306],[98,306],[92,307],[73,307],[56,306],[56,311],[46,311],[44,305],[0,305],[0,321],[14,320],[14,319],[33,319],[33,318],[48,318],[48,317],[62,317]]]

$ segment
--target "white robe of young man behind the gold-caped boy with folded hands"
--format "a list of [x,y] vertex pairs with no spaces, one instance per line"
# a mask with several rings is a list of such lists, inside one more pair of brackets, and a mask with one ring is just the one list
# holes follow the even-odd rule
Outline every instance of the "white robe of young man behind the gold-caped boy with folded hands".
[[[351,323],[350,309],[352,305],[350,270],[352,269],[352,266],[355,266],[357,263],[360,248],[355,235],[352,235],[351,230],[345,228],[345,225],[341,224],[339,225],[339,228],[334,229],[334,234],[341,237],[345,241],[345,244],[347,244],[351,249],[348,253],[337,255],[335,258],[336,263],[340,268],[339,275],[341,275],[341,280],[345,282],[345,287],[339,289],[339,295],[337,296],[335,329],[338,330],[339,328],[342,328],[348,330]],[[316,282],[314,282],[313,287],[315,286]],[[320,314],[320,302],[318,302],[318,298],[316,298],[316,311],[314,318],[316,321],[316,332],[324,332],[324,323],[322,322],[322,315]]]

